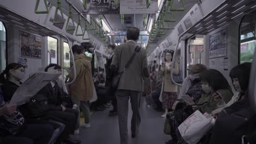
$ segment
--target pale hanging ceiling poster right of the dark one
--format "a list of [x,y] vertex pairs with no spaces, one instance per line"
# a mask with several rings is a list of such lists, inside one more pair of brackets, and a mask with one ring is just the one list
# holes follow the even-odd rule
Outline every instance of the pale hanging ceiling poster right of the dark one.
[[156,14],[158,0],[120,0],[120,14]]

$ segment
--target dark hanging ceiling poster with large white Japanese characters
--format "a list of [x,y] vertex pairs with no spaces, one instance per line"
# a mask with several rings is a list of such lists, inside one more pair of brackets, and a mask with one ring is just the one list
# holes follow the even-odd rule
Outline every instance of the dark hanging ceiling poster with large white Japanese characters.
[[87,15],[119,14],[120,2],[114,0],[88,0],[83,12]]

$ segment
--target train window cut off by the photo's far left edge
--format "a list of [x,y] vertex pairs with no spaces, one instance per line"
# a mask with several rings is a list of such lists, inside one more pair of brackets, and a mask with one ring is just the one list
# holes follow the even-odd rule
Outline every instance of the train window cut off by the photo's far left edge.
[[0,21],[0,72],[6,67],[6,33],[3,23]]

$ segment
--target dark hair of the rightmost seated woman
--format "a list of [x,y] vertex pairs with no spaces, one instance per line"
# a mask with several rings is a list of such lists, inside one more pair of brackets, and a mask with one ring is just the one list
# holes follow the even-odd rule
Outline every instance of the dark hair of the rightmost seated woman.
[[232,68],[230,70],[229,76],[232,79],[237,78],[240,84],[240,87],[243,92],[247,91],[248,85],[249,85],[249,77],[251,72],[251,65],[252,63],[243,63],[236,65],[236,67]]

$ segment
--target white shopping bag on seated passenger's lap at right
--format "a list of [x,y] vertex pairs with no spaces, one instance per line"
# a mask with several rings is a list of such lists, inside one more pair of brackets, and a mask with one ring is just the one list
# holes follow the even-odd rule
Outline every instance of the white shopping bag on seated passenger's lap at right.
[[210,120],[197,110],[179,125],[178,129],[185,142],[196,144],[212,126]]

